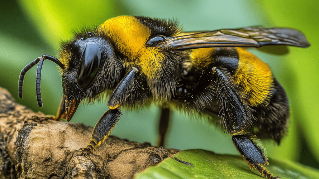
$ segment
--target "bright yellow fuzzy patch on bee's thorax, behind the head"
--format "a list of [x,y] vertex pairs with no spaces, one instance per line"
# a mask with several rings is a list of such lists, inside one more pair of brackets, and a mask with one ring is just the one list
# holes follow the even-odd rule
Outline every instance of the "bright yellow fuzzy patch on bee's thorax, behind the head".
[[148,78],[157,78],[165,56],[159,49],[145,46],[151,35],[149,28],[133,16],[118,16],[108,19],[97,30],[110,34],[115,47],[127,57],[122,59],[124,66],[140,66]]

